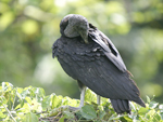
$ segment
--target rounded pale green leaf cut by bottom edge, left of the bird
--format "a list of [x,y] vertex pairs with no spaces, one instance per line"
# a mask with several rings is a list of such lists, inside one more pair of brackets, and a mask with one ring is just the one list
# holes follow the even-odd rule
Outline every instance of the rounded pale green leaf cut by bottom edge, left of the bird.
[[25,114],[23,122],[38,122],[38,117],[33,112],[28,112]]

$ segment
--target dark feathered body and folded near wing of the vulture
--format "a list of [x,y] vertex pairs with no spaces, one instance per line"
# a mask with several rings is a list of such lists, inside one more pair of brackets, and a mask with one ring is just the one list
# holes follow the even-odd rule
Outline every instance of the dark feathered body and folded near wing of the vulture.
[[[67,44],[63,44],[64,42]],[[80,44],[80,50],[77,46],[78,43]],[[55,52],[58,52],[57,56],[64,71],[72,78],[79,80],[98,95],[112,99],[134,100],[143,106],[143,101],[139,97],[139,90],[129,78],[129,73],[121,71],[115,62],[104,55],[103,51],[95,51],[97,45],[97,43],[85,44],[80,43],[78,39],[62,37],[58,40],[58,50]],[[111,53],[109,48],[105,50],[108,51],[106,53]],[[115,60],[123,62],[118,60],[118,58]],[[125,68],[122,64],[121,67],[122,69]]]

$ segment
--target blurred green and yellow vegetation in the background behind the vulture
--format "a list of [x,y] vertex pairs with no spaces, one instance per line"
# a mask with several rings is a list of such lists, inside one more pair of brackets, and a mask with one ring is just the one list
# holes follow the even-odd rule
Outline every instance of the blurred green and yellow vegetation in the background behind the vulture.
[[163,103],[162,0],[0,0],[0,81],[79,98],[77,83],[51,54],[60,22],[72,13],[112,40],[143,99]]

